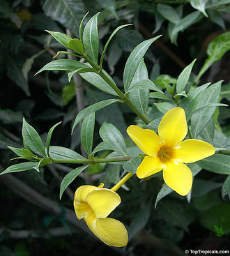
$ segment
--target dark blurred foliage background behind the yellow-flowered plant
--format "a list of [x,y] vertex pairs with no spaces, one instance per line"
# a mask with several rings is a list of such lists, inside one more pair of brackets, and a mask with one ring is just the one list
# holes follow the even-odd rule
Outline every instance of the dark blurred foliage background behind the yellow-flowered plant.
[[[77,37],[79,23],[86,12],[90,11],[86,18],[89,20],[101,11],[101,51],[116,27],[132,23],[133,26],[121,29],[114,36],[104,63],[105,70],[121,87],[125,61],[133,48],[142,40],[163,34],[148,50],[145,62],[151,80],[160,84],[160,79],[164,79],[172,84],[195,58],[197,63],[193,73],[199,73],[206,59],[208,43],[229,31],[230,27],[230,1],[204,1],[205,12],[194,8],[190,2],[0,0],[0,171],[12,164],[10,158],[15,158],[6,146],[22,147],[23,116],[44,140],[49,128],[62,121],[54,131],[52,145],[66,146],[82,153],[79,126],[70,135],[72,121],[79,107],[108,98],[80,77],[77,84],[69,83],[64,72],[44,72],[34,77],[40,68],[52,61],[56,52],[65,50],[45,29],[62,33],[69,30],[72,37]],[[183,19],[179,25],[176,17]],[[224,80],[224,103],[227,104],[230,100],[229,61],[230,53],[227,52],[200,82]],[[82,97],[81,104],[79,100],[76,102],[75,86]],[[159,112],[153,99],[150,103],[149,108]],[[230,135],[229,120],[229,108],[220,108],[218,121],[225,136]],[[123,105],[114,104],[100,110],[96,114],[95,146],[100,142],[98,130],[103,122],[113,123],[123,133],[127,144],[131,144],[125,130],[139,120]],[[102,158],[108,153],[104,151],[98,156]],[[125,189],[119,190],[122,203],[112,213],[112,217],[128,227],[130,242],[126,248],[109,248],[89,232],[83,221],[77,220],[72,198],[75,190],[85,183],[98,186],[104,182],[105,187],[112,187],[123,170],[120,165],[93,165],[87,175],[82,174],[71,183],[60,201],[61,180],[74,167],[55,164],[44,167],[40,173],[31,170],[0,177],[1,256],[175,256],[185,255],[184,251],[190,249],[230,248],[230,204],[226,192],[230,191],[230,181],[226,185],[229,190],[223,192],[221,189],[226,175],[200,172],[194,181],[190,202],[186,197],[171,193],[156,209],[154,204],[162,186],[161,177],[143,183],[133,177]],[[222,239],[216,236],[214,225],[219,228],[222,225]]]

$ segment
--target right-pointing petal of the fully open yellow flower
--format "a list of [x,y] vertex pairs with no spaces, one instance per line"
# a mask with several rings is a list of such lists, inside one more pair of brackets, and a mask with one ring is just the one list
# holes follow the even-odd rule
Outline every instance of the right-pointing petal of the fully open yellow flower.
[[201,140],[185,140],[176,146],[176,158],[183,163],[193,163],[215,154],[215,148]]

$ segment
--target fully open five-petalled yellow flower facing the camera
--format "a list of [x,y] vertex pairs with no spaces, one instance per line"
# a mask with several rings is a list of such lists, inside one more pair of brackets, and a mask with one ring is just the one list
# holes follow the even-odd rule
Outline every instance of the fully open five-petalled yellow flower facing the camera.
[[163,170],[164,182],[180,195],[187,195],[192,188],[192,172],[183,163],[193,163],[215,153],[215,148],[207,142],[183,141],[187,135],[187,121],[181,107],[164,114],[158,135],[138,126],[129,126],[127,133],[148,155],[137,168],[137,176],[142,179]]

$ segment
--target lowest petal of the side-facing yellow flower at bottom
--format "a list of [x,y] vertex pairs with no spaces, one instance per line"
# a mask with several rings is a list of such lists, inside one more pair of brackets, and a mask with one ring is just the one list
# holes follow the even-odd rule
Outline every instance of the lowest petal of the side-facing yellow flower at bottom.
[[113,218],[96,220],[96,232],[108,246],[123,247],[128,243],[128,232],[123,223]]

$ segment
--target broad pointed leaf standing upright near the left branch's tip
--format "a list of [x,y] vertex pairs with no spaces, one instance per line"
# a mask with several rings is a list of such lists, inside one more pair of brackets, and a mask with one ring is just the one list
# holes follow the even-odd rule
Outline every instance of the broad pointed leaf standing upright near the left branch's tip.
[[38,156],[46,157],[43,141],[37,131],[30,126],[25,119],[23,119],[22,136],[24,137],[26,146],[28,146],[31,151],[36,153]]

